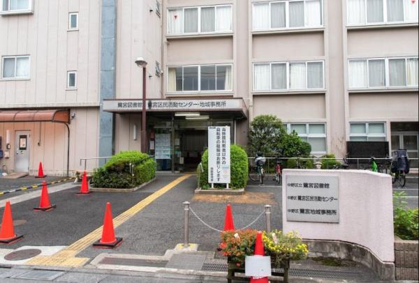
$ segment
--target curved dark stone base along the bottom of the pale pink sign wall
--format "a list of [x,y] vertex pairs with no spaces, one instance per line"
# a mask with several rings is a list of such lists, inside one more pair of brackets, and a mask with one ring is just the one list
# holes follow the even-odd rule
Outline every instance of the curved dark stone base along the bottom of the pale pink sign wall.
[[339,240],[304,239],[304,243],[308,245],[309,257],[348,259],[371,268],[381,280],[395,280],[395,263],[381,261],[367,247]]

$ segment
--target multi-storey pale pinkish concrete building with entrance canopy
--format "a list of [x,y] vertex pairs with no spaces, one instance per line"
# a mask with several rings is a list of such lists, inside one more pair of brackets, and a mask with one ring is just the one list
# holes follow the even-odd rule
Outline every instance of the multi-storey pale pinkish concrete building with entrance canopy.
[[3,170],[66,174],[139,150],[137,57],[160,170],[195,167],[209,125],[246,144],[260,114],[314,155],[388,141],[418,157],[418,1],[2,2]]

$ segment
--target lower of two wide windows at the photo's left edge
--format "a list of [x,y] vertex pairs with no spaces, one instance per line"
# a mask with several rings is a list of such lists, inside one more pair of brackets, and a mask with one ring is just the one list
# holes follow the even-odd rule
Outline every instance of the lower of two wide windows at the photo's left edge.
[[4,56],[2,61],[3,79],[29,79],[29,56]]

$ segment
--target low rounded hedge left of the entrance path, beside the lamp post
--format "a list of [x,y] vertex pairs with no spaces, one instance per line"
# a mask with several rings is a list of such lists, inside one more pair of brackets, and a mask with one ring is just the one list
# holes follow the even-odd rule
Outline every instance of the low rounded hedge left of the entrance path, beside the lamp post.
[[[130,164],[133,165],[131,174]],[[91,183],[96,188],[135,188],[156,176],[156,162],[140,151],[122,151],[95,169]]]

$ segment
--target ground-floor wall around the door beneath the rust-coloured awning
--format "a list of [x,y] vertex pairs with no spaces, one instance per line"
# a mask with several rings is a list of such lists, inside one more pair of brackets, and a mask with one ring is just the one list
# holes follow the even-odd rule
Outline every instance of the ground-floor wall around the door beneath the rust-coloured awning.
[[[83,169],[80,158],[96,157],[98,153],[98,109],[75,108],[70,126],[70,170]],[[10,158],[2,158],[0,167],[6,165],[8,171],[15,168],[15,131],[29,130],[31,145],[29,150],[29,174],[37,174],[39,162],[43,162],[47,175],[64,176],[67,169],[68,132],[64,124],[50,122],[0,123],[3,137],[3,151],[6,150],[6,130],[10,131]],[[39,144],[38,144],[39,143]],[[96,167],[96,161],[87,162],[87,169]]]

